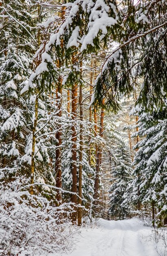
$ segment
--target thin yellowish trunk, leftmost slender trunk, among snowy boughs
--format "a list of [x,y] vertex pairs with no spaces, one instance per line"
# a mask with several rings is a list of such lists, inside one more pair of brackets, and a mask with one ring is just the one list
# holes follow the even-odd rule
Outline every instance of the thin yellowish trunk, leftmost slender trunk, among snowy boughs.
[[[36,132],[36,126],[37,126],[37,118],[38,118],[38,96],[39,92],[37,90],[36,93],[36,99],[35,99],[35,119],[33,124],[33,138],[32,138],[32,153],[31,153],[31,184],[34,183],[34,167],[35,167],[35,132]],[[30,194],[33,195],[33,186],[30,186]]]

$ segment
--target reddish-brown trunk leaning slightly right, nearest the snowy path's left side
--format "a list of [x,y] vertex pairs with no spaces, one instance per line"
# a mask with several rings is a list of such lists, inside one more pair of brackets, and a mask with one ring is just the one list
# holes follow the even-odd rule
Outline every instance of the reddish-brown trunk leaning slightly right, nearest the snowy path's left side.
[[[104,99],[103,99],[104,104]],[[104,109],[101,108],[101,116],[100,116],[100,130],[99,136],[103,137],[103,129],[104,129]],[[94,213],[97,215],[99,208],[99,173],[100,173],[100,164],[102,157],[102,149],[101,146],[97,147],[97,158],[96,158],[96,171],[95,171],[95,180],[94,180]]]

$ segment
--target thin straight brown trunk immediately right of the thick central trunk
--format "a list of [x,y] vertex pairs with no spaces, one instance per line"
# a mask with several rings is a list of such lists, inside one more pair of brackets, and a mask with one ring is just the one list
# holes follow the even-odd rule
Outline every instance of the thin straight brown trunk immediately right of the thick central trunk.
[[[80,110],[80,144],[79,144],[79,186],[78,203],[82,203],[82,155],[83,155],[83,107],[82,107],[82,85],[79,85],[79,110]],[[82,224],[82,208],[78,208],[78,226]]]

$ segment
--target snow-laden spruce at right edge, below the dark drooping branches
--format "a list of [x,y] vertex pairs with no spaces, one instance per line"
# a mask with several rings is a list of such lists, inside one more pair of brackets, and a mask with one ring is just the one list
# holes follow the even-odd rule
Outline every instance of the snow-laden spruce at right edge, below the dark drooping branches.
[[[136,108],[139,115],[139,131],[134,136],[143,138],[136,144],[138,149],[134,158],[137,178],[134,187],[140,186],[140,200],[143,203],[154,205],[155,216],[160,225],[160,216],[166,221],[166,101],[162,108],[156,108],[152,113],[145,109]],[[136,191],[135,191],[136,192]],[[137,193],[137,192],[136,192]],[[134,194],[136,196],[136,193]],[[134,201],[135,201],[134,196]],[[154,211],[153,211],[154,216]],[[154,224],[154,222],[153,222]]]

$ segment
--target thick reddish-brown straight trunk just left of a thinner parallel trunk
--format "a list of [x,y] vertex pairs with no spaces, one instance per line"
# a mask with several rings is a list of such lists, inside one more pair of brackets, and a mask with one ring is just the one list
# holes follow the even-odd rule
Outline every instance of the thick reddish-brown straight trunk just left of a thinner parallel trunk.
[[[72,84],[72,192],[76,193],[71,196],[71,202],[77,204],[77,131],[75,121],[77,117],[77,84]],[[77,222],[77,207],[74,207],[75,212],[72,214],[72,222]]]

